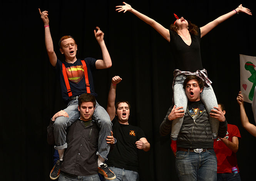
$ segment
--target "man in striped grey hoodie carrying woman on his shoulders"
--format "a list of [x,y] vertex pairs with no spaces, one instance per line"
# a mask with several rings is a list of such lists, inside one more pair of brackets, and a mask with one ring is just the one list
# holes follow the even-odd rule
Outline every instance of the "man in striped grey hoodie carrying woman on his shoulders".
[[[176,155],[176,170],[179,180],[217,180],[217,158],[213,150],[213,137],[209,115],[200,99],[204,82],[197,76],[187,76],[184,81],[188,99],[187,110],[183,107],[170,107],[160,125],[161,135],[171,132],[172,120],[184,117],[177,138],[177,147],[173,148]],[[227,122],[219,107],[214,107],[211,117],[219,120],[218,136],[223,138],[227,131]],[[177,152],[176,152],[177,149]]]

